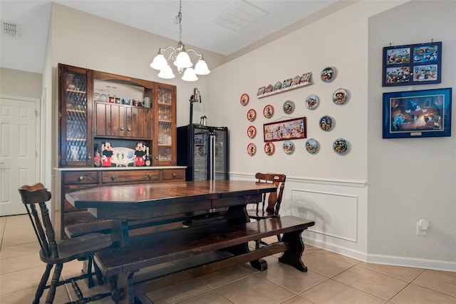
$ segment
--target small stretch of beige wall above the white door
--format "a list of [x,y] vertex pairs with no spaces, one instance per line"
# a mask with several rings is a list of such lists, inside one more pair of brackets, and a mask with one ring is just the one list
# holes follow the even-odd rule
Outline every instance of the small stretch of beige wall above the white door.
[[0,68],[0,93],[41,98],[41,74]]

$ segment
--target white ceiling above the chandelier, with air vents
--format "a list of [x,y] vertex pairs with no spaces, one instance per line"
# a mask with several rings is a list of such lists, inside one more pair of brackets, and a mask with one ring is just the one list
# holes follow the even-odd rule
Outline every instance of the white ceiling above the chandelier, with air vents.
[[[337,0],[182,0],[182,42],[230,55]],[[15,37],[0,36],[0,66],[43,71],[51,2],[0,0],[2,22],[18,25]],[[179,40],[178,0],[55,0],[120,24]],[[253,7],[251,6],[253,5]],[[255,7],[256,6],[256,7]],[[255,20],[255,16],[258,19]],[[239,29],[239,25],[244,28]],[[229,29],[227,26],[236,29]]]

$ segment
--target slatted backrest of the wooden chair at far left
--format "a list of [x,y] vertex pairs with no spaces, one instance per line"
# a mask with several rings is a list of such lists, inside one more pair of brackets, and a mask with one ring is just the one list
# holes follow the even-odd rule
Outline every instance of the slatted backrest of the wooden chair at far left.
[[[44,188],[42,183],[32,186],[24,185],[18,190],[40,243],[42,254],[48,258],[58,258],[56,235],[46,206],[46,201],[51,199],[51,192]],[[41,211],[41,219],[38,215],[37,205]]]

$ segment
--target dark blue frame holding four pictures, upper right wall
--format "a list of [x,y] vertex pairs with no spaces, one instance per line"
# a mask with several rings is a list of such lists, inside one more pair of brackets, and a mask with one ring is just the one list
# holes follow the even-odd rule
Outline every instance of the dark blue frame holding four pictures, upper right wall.
[[382,86],[442,82],[442,42],[385,46]]

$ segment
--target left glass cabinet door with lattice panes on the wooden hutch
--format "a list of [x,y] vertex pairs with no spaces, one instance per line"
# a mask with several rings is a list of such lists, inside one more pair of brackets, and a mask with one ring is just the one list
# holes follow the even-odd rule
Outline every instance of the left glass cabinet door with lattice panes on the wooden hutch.
[[93,146],[90,134],[88,71],[59,66],[61,166],[92,166]]

